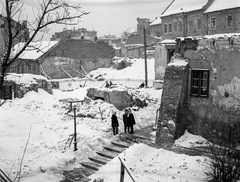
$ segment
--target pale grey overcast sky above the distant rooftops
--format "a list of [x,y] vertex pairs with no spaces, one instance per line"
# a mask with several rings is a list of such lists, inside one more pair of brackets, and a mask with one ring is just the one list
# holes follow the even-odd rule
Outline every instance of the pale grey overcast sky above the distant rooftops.
[[[2,0],[0,0],[2,1]],[[27,6],[25,16],[31,18],[31,7],[38,3],[38,0],[21,0]],[[159,17],[163,10],[172,0],[69,0],[73,3],[80,3],[84,11],[90,14],[83,16],[82,21],[75,28],[86,28],[97,31],[98,36],[120,35],[127,29],[137,28],[137,18],[149,18],[151,21]],[[29,8],[30,7],[30,8]],[[23,19],[25,17],[22,17]],[[67,27],[72,28],[72,27]],[[63,26],[51,26],[49,40],[55,32],[62,31]]]

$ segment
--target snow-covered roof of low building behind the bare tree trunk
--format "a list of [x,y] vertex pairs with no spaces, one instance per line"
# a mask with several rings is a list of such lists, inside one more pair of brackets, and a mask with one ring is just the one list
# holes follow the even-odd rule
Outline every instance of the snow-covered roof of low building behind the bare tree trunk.
[[[28,47],[23,51],[23,53],[19,56],[19,59],[31,59],[36,60],[43,56],[46,52],[52,49],[55,45],[57,45],[58,41],[38,41],[31,42]],[[16,55],[24,46],[25,42],[20,42],[13,47],[12,55]]]

